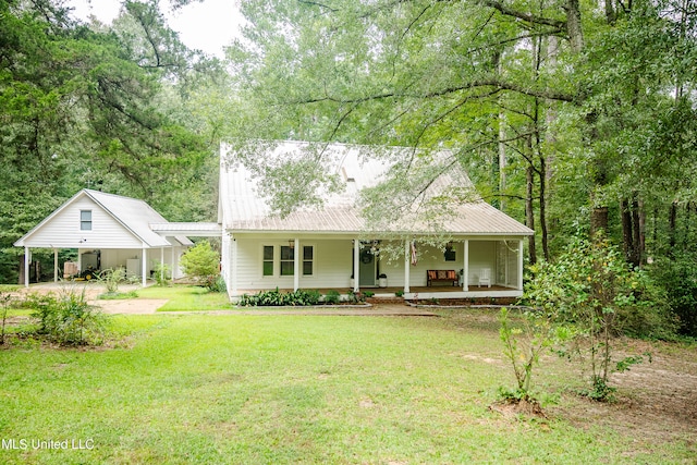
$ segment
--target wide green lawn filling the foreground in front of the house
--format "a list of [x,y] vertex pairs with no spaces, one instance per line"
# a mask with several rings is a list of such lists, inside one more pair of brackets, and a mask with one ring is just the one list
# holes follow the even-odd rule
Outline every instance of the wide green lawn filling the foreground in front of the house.
[[[0,438],[94,443],[91,450],[0,449],[0,463],[694,458],[687,440],[662,443],[610,427],[575,427],[563,417],[489,411],[497,387],[512,379],[496,329],[465,323],[452,315],[122,316],[114,319],[124,338],[117,347],[0,350]],[[574,379],[558,364],[538,381],[560,387]]]

